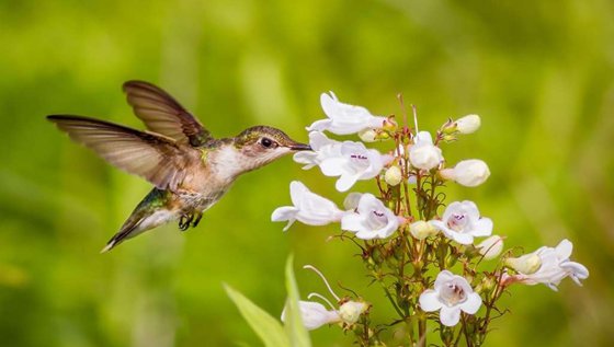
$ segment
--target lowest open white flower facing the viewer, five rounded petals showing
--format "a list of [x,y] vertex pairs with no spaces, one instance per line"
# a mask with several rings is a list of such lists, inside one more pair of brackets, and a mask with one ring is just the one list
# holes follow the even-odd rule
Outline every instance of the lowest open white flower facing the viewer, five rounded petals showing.
[[440,311],[442,324],[454,326],[461,320],[461,311],[468,314],[478,312],[481,298],[465,278],[443,270],[435,279],[435,289],[427,289],[420,294],[419,302],[422,311]]

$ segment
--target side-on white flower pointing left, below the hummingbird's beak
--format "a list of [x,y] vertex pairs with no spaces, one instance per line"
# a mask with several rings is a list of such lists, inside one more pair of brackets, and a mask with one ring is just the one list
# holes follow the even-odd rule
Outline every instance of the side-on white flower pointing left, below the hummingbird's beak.
[[289,195],[294,206],[280,207],[271,215],[272,221],[288,221],[284,231],[286,231],[295,220],[308,225],[326,225],[341,220],[343,216],[343,211],[341,211],[334,203],[311,193],[298,181],[293,181],[289,184]]

